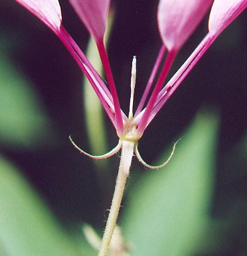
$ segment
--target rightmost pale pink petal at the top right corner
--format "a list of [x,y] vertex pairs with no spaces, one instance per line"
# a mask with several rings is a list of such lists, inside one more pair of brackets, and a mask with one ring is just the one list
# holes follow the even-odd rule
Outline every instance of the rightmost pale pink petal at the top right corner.
[[247,0],[215,0],[209,16],[209,33],[219,35],[247,7]]

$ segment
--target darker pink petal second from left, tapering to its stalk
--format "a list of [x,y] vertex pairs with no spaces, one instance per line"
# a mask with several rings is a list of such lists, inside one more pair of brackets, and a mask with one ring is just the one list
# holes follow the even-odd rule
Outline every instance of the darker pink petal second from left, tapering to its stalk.
[[96,42],[102,41],[109,10],[109,0],[70,0],[70,4]]

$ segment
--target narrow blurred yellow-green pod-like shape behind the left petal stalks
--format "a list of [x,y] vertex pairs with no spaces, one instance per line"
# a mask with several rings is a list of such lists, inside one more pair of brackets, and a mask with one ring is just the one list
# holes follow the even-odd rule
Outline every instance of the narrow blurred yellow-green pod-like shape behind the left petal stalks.
[[[107,19],[105,45],[107,45],[109,34],[111,32],[113,16],[113,11],[110,11]],[[103,73],[103,65],[101,63],[97,45],[93,38],[90,38],[89,40],[86,55],[91,61],[93,67],[95,67],[95,70],[98,71],[99,74]],[[106,125],[104,122],[105,112],[99,98],[93,90],[93,87],[85,76],[83,77],[83,103],[85,110],[85,125],[87,128],[87,136],[89,138],[91,151],[93,155],[105,154],[109,150]],[[102,191],[101,204],[103,208],[107,208],[109,207],[108,195],[112,193],[111,189],[113,187],[109,168],[109,159],[104,159],[103,161],[94,161],[94,164],[97,171],[97,183]],[[105,184],[108,185],[105,186]]]

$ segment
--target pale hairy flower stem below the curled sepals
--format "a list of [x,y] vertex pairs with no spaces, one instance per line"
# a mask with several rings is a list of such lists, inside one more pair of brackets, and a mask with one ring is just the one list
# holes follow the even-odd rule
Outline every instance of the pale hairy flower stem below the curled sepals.
[[123,140],[121,148],[121,160],[119,164],[119,170],[117,174],[117,181],[115,185],[115,191],[111,202],[111,209],[105,226],[105,232],[101,243],[101,249],[98,256],[107,255],[107,250],[111,242],[111,237],[117,222],[117,216],[119,214],[119,208],[121,206],[121,200],[123,198],[123,191],[126,186],[126,180],[129,176],[130,165],[132,162],[134,152],[134,142]]

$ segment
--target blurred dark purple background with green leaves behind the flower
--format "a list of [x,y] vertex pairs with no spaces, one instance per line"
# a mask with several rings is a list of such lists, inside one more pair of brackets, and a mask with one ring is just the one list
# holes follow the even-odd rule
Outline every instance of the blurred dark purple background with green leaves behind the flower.
[[[86,29],[67,1],[60,5],[65,28],[86,50]],[[113,1],[109,58],[126,113],[132,56],[137,103],[160,48],[157,5]],[[1,0],[0,13],[0,255],[96,255],[81,225],[101,235],[119,157],[92,161],[73,148],[70,134],[85,151],[97,151],[87,133],[81,71],[58,38],[15,1]],[[181,138],[162,170],[146,170],[134,158],[119,218],[131,255],[247,255],[246,24],[245,11],[140,140],[143,159],[161,163]],[[206,32],[207,18],[171,74]],[[91,124],[99,127],[99,153],[117,144],[105,115],[103,121]]]

